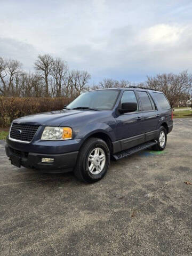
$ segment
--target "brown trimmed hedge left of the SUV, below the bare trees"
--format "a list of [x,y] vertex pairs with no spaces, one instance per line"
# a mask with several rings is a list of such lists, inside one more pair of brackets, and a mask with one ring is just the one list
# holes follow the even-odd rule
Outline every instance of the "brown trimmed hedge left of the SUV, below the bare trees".
[[7,98],[0,97],[0,126],[8,127],[13,119],[46,112],[61,110],[72,99],[67,98]]

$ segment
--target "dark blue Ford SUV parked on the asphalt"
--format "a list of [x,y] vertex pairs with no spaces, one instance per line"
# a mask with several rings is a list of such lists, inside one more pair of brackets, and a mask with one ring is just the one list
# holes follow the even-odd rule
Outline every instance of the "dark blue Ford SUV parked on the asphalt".
[[15,119],[6,154],[15,166],[45,172],[74,171],[85,182],[101,179],[110,158],[163,150],[173,113],[162,92],[140,87],[79,95],[63,110]]

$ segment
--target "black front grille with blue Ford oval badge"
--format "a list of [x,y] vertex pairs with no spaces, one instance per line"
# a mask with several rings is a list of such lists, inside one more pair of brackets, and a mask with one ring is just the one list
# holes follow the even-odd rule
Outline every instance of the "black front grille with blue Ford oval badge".
[[30,142],[38,129],[38,125],[12,124],[10,138]]

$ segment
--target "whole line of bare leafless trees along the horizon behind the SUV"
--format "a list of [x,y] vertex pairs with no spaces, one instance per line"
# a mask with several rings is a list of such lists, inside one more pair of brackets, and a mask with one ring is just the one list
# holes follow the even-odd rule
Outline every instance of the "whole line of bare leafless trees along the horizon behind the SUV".
[[91,75],[86,70],[70,69],[66,61],[53,58],[50,54],[39,54],[34,69],[34,72],[26,72],[20,61],[0,57],[0,96],[73,99],[93,89],[133,85],[164,92],[172,107],[182,101],[190,101],[192,106],[192,74],[187,70],[180,74],[147,76],[147,80],[142,83],[104,78],[97,85],[91,86]]

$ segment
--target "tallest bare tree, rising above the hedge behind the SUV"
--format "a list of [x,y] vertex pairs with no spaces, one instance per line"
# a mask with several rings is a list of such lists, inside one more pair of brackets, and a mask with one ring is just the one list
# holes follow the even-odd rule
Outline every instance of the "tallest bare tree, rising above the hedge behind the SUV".
[[38,55],[35,69],[42,75],[45,82],[45,97],[49,97],[49,76],[53,67],[53,57],[50,54]]

